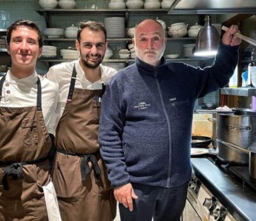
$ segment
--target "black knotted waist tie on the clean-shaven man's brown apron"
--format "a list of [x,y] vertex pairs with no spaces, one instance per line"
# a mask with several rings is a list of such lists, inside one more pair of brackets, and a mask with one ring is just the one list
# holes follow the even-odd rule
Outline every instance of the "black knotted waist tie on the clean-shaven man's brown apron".
[[2,183],[3,183],[4,190],[9,190],[9,185],[7,181],[8,176],[12,176],[12,179],[14,180],[23,179],[23,172],[22,172],[23,165],[39,164],[41,162],[44,162],[45,160],[47,160],[47,156],[40,158],[38,160],[33,160],[29,162],[19,162],[19,163],[13,163],[13,164],[0,161],[0,165],[8,165],[6,167],[3,167],[4,174],[2,178]]

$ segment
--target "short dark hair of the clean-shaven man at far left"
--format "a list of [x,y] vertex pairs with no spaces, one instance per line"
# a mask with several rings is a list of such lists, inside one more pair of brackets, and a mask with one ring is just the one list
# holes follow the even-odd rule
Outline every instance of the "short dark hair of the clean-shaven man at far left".
[[6,32],[6,40],[7,40],[8,45],[10,45],[10,42],[11,42],[12,32],[15,31],[17,29],[17,27],[19,27],[19,26],[26,26],[29,29],[35,30],[36,33],[38,34],[39,47],[40,48],[43,47],[43,43],[44,43],[43,34],[40,31],[37,24],[31,20],[24,20],[24,19],[19,19],[16,22],[14,22],[10,27],[8,27],[7,32]]

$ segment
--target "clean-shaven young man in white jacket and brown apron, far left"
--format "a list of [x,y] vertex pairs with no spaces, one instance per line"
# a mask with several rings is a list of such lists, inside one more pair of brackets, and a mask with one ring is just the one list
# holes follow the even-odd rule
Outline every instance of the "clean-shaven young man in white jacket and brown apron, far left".
[[17,20],[6,37],[12,67],[0,80],[0,220],[61,220],[48,161],[58,85],[36,73],[43,38],[35,22]]

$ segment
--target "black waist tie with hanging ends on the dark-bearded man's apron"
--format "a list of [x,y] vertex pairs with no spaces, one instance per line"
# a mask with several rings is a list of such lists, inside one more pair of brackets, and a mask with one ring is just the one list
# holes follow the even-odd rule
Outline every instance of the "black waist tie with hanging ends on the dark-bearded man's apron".
[[81,160],[81,164],[80,164],[80,168],[81,168],[81,178],[82,181],[86,180],[86,176],[88,174],[90,174],[90,167],[89,167],[89,161],[92,162],[92,166],[93,166],[93,171],[94,171],[94,177],[95,177],[95,182],[99,183],[100,181],[100,167],[98,164],[98,160],[96,158],[96,154],[99,153],[99,151],[97,151],[94,154],[79,154],[79,153],[70,153],[67,151],[64,151],[63,149],[57,149],[58,152],[63,153],[65,155],[72,155],[72,156],[79,156],[82,157]]

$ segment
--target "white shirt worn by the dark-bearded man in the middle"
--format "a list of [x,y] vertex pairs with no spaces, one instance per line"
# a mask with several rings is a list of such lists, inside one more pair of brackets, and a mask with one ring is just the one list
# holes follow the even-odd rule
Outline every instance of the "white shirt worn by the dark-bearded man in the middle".
[[106,82],[108,82],[108,80],[116,73],[116,70],[114,68],[100,65],[100,79],[92,83],[86,79],[86,76],[79,64],[79,61],[80,59],[77,59],[76,61],[54,65],[49,69],[49,72],[45,75],[47,79],[52,80],[53,82],[56,82],[59,85],[59,100],[57,105],[56,126],[60,121],[60,118],[63,114],[63,111],[67,103],[70,80],[74,65],[76,65],[77,72],[75,88],[90,90],[102,89],[102,83],[105,84]]

